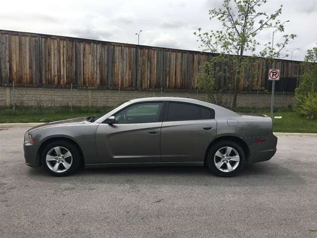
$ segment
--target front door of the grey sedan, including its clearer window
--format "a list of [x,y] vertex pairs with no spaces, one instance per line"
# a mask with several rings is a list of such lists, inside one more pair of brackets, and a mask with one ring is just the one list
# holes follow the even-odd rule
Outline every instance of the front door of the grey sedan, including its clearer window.
[[101,123],[96,145],[99,163],[160,162],[162,102],[137,103],[115,115],[115,123]]

